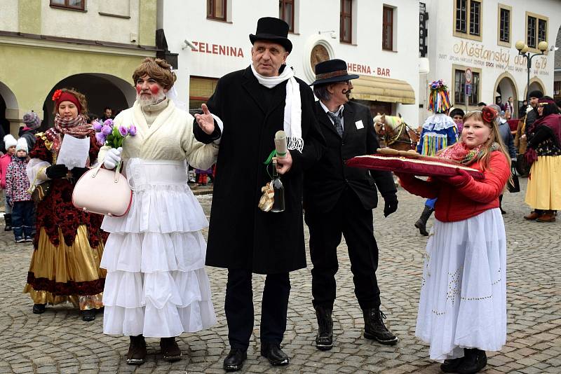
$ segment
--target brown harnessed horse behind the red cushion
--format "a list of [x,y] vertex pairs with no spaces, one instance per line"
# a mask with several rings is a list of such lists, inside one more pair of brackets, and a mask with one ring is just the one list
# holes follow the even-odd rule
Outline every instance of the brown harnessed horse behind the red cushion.
[[380,114],[374,117],[374,130],[387,147],[398,151],[415,149],[419,134],[413,130],[401,116]]

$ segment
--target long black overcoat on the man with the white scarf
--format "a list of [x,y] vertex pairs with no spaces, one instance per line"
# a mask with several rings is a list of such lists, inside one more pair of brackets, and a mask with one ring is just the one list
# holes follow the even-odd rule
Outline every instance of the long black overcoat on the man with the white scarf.
[[[274,88],[269,109],[250,67],[219,79],[208,100],[210,113],[224,123],[210,210],[206,264],[247,269],[259,274],[306,267],[302,220],[303,172],[321,155],[325,139],[313,113],[313,93],[297,79],[302,99],[304,149],[291,151],[292,169],[281,181],[285,212],[262,212],[257,204],[261,188],[271,181],[264,161],[274,149],[274,136],[283,130],[286,81]],[[261,92],[261,93],[260,93]],[[208,136],[194,123],[194,134]],[[272,167],[272,165],[271,165]]]

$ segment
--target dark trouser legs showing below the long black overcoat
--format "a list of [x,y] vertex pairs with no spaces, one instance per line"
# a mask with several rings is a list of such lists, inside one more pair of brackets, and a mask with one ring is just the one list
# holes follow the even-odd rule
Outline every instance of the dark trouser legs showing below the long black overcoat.
[[[231,348],[248,349],[253,331],[253,290],[251,270],[228,269],[224,311]],[[290,296],[288,272],[269,274],[261,303],[260,338],[263,343],[283,341]]]

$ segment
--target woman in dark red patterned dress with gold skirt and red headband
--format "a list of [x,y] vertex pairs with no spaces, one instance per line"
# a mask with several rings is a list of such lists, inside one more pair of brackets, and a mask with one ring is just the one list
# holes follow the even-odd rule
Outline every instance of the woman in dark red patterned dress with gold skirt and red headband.
[[[100,269],[104,236],[103,216],[89,214],[72,205],[74,183],[97,158],[95,133],[86,123],[86,97],[63,88],[53,95],[55,125],[37,134],[29,153],[29,180],[50,181],[50,191],[37,205],[37,233],[24,293],[33,300],[33,312],[41,314],[47,303],[72,302],[79,306],[84,321],[93,321],[102,307],[105,270]],[[56,160],[65,136],[88,137],[90,149],[86,167],[68,169]]]

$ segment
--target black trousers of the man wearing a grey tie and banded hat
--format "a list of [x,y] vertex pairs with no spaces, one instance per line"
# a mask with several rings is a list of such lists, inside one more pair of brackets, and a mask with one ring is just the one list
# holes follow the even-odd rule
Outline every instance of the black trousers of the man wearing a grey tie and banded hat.
[[305,219],[310,230],[313,306],[333,307],[337,289],[335,274],[339,269],[337,247],[344,235],[358,304],[363,310],[379,307],[378,246],[372,210],[364,209],[356,193],[347,188],[331,212],[307,209]]

